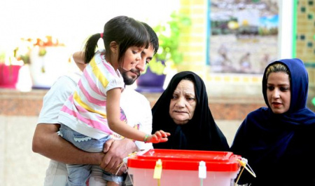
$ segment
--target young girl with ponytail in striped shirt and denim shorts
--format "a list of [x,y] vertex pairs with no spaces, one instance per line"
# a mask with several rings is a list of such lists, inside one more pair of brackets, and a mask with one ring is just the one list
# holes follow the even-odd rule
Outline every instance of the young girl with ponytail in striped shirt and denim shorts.
[[[99,38],[104,40],[105,52],[94,53]],[[87,152],[102,152],[104,142],[110,138],[153,143],[167,141],[169,133],[164,131],[151,135],[128,126],[120,109],[120,94],[125,87],[120,72],[130,71],[141,61],[141,52],[149,42],[144,25],[126,16],[109,20],[104,33],[90,36],[84,51],[84,61],[89,64],[76,91],[59,112],[63,138]],[[67,168],[68,185],[85,185],[91,165],[67,165]],[[119,185],[123,180],[109,173],[104,173],[104,179],[109,181],[107,185]]]

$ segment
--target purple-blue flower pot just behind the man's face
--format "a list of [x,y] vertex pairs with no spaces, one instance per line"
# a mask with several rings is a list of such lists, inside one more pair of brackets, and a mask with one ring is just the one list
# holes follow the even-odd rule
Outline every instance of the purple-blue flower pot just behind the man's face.
[[150,67],[137,79],[138,92],[161,93],[164,91],[165,74],[155,74]]

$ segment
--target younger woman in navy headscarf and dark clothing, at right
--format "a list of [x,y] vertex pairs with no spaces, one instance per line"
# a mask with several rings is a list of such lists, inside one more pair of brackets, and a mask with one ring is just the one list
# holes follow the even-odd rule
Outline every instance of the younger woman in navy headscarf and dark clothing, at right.
[[269,64],[262,79],[267,107],[248,114],[231,150],[248,159],[239,184],[315,185],[315,114],[307,108],[308,74],[300,59]]

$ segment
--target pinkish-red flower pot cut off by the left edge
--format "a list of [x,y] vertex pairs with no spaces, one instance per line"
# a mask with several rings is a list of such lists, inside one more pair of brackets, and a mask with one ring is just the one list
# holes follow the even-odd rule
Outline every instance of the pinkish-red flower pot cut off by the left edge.
[[0,88],[16,88],[21,65],[0,63]]

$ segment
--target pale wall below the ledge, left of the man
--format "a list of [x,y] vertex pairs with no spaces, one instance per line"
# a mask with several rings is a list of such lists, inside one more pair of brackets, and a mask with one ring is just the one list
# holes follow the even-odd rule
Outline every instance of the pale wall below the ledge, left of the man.
[[0,115],[0,185],[43,185],[49,159],[31,151],[37,117]]

